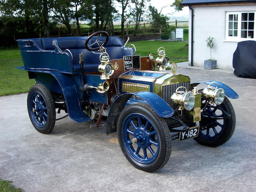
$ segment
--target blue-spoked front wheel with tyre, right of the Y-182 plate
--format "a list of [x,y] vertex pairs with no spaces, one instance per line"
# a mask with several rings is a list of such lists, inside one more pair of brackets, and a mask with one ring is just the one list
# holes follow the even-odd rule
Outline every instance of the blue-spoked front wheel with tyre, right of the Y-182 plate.
[[[228,115],[225,112],[228,113]],[[211,104],[201,110],[200,128],[205,129],[199,132],[198,137],[194,138],[198,143],[216,147],[227,142],[236,125],[236,116],[232,104],[225,97],[220,105]]]

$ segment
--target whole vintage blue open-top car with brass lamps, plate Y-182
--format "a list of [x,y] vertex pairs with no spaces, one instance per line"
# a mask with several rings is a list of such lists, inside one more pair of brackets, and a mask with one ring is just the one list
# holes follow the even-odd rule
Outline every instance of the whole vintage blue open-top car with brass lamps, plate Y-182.
[[[154,61],[153,54],[135,55],[135,46],[126,47],[105,31],[18,44],[24,62],[18,68],[36,80],[27,106],[38,132],[50,133],[60,110],[78,123],[97,120],[100,126],[105,119],[106,133],[117,131],[127,160],[147,172],[168,162],[172,140],[194,138],[216,147],[234,132],[235,112],[227,97],[238,94],[217,81],[191,84],[176,73],[162,47]],[[198,84],[205,86],[198,90]]]

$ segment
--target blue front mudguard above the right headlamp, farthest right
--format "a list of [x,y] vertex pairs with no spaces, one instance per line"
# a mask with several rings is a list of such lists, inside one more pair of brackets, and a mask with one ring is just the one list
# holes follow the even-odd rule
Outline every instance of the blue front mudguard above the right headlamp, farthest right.
[[[203,81],[203,82],[195,82],[191,84],[191,88],[193,86],[197,86],[198,84],[203,83],[203,84],[210,84],[210,83],[216,83],[218,85],[218,88],[222,88],[224,89],[224,92],[226,94],[227,97],[231,98],[231,99],[237,99],[239,96],[238,94],[229,86],[225,85],[222,82],[218,82],[218,81]],[[215,84],[212,84],[212,86],[216,87]]]

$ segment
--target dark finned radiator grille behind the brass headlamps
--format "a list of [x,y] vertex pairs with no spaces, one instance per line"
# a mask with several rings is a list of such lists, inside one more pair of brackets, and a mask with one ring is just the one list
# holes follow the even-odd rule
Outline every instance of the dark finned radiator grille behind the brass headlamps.
[[[171,100],[170,97],[172,96],[172,94],[175,93],[176,89],[180,86],[184,86],[187,88],[187,90],[190,90],[190,82],[184,82],[184,83],[178,83],[178,84],[173,84],[173,85],[166,85],[166,86],[162,86],[162,98],[166,101],[166,103],[168,103],[173,109],[174,109],[174,105],[171,104]],[[184,88],[180,88],[179,91],[185,91]],[[180,119],[180,120],[184,120],[185,119],[185,114],[183,113],[182,116],[178,116],[177,113],[175,113],[173,115],[174,118]],[[172,124],[174,122],[176,122],[175,120],[173,120],[172,118],[165,118],[167,124]]]

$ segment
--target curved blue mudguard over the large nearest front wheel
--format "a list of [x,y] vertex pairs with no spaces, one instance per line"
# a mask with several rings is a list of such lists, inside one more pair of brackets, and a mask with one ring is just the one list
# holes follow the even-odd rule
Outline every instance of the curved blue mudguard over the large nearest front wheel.
[[[132,96],[137,96],[138,98]],[[129,100],[130,99],[130,100]],[[112,104],[108,119],[107,119],[107,127],[106,133],[116,132],[117,120],[120,112],[126,106],[129,100],[129,104],[136,102],[144,102],[149,104],[152,109],[158,114],[160,117],[168,118],[174,114],[174,110],[158,95],[152,92],[137,92],[137,93],[126,93],[122,94]]]

